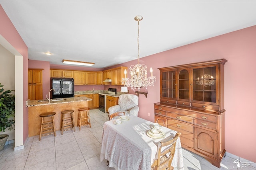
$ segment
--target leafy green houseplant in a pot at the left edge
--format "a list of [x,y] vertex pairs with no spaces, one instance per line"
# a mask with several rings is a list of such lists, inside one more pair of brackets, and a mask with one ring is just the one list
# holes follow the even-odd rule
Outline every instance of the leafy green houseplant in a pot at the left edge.
[[[8,128],[12,130],[14,127],[15,116],[15,96],[12,94],[14,90],[6,90],[2,88],[0,83],[0,132],[5,132]],[[4,145],[9,135],[0,135],[0,151],[4,149]]]

